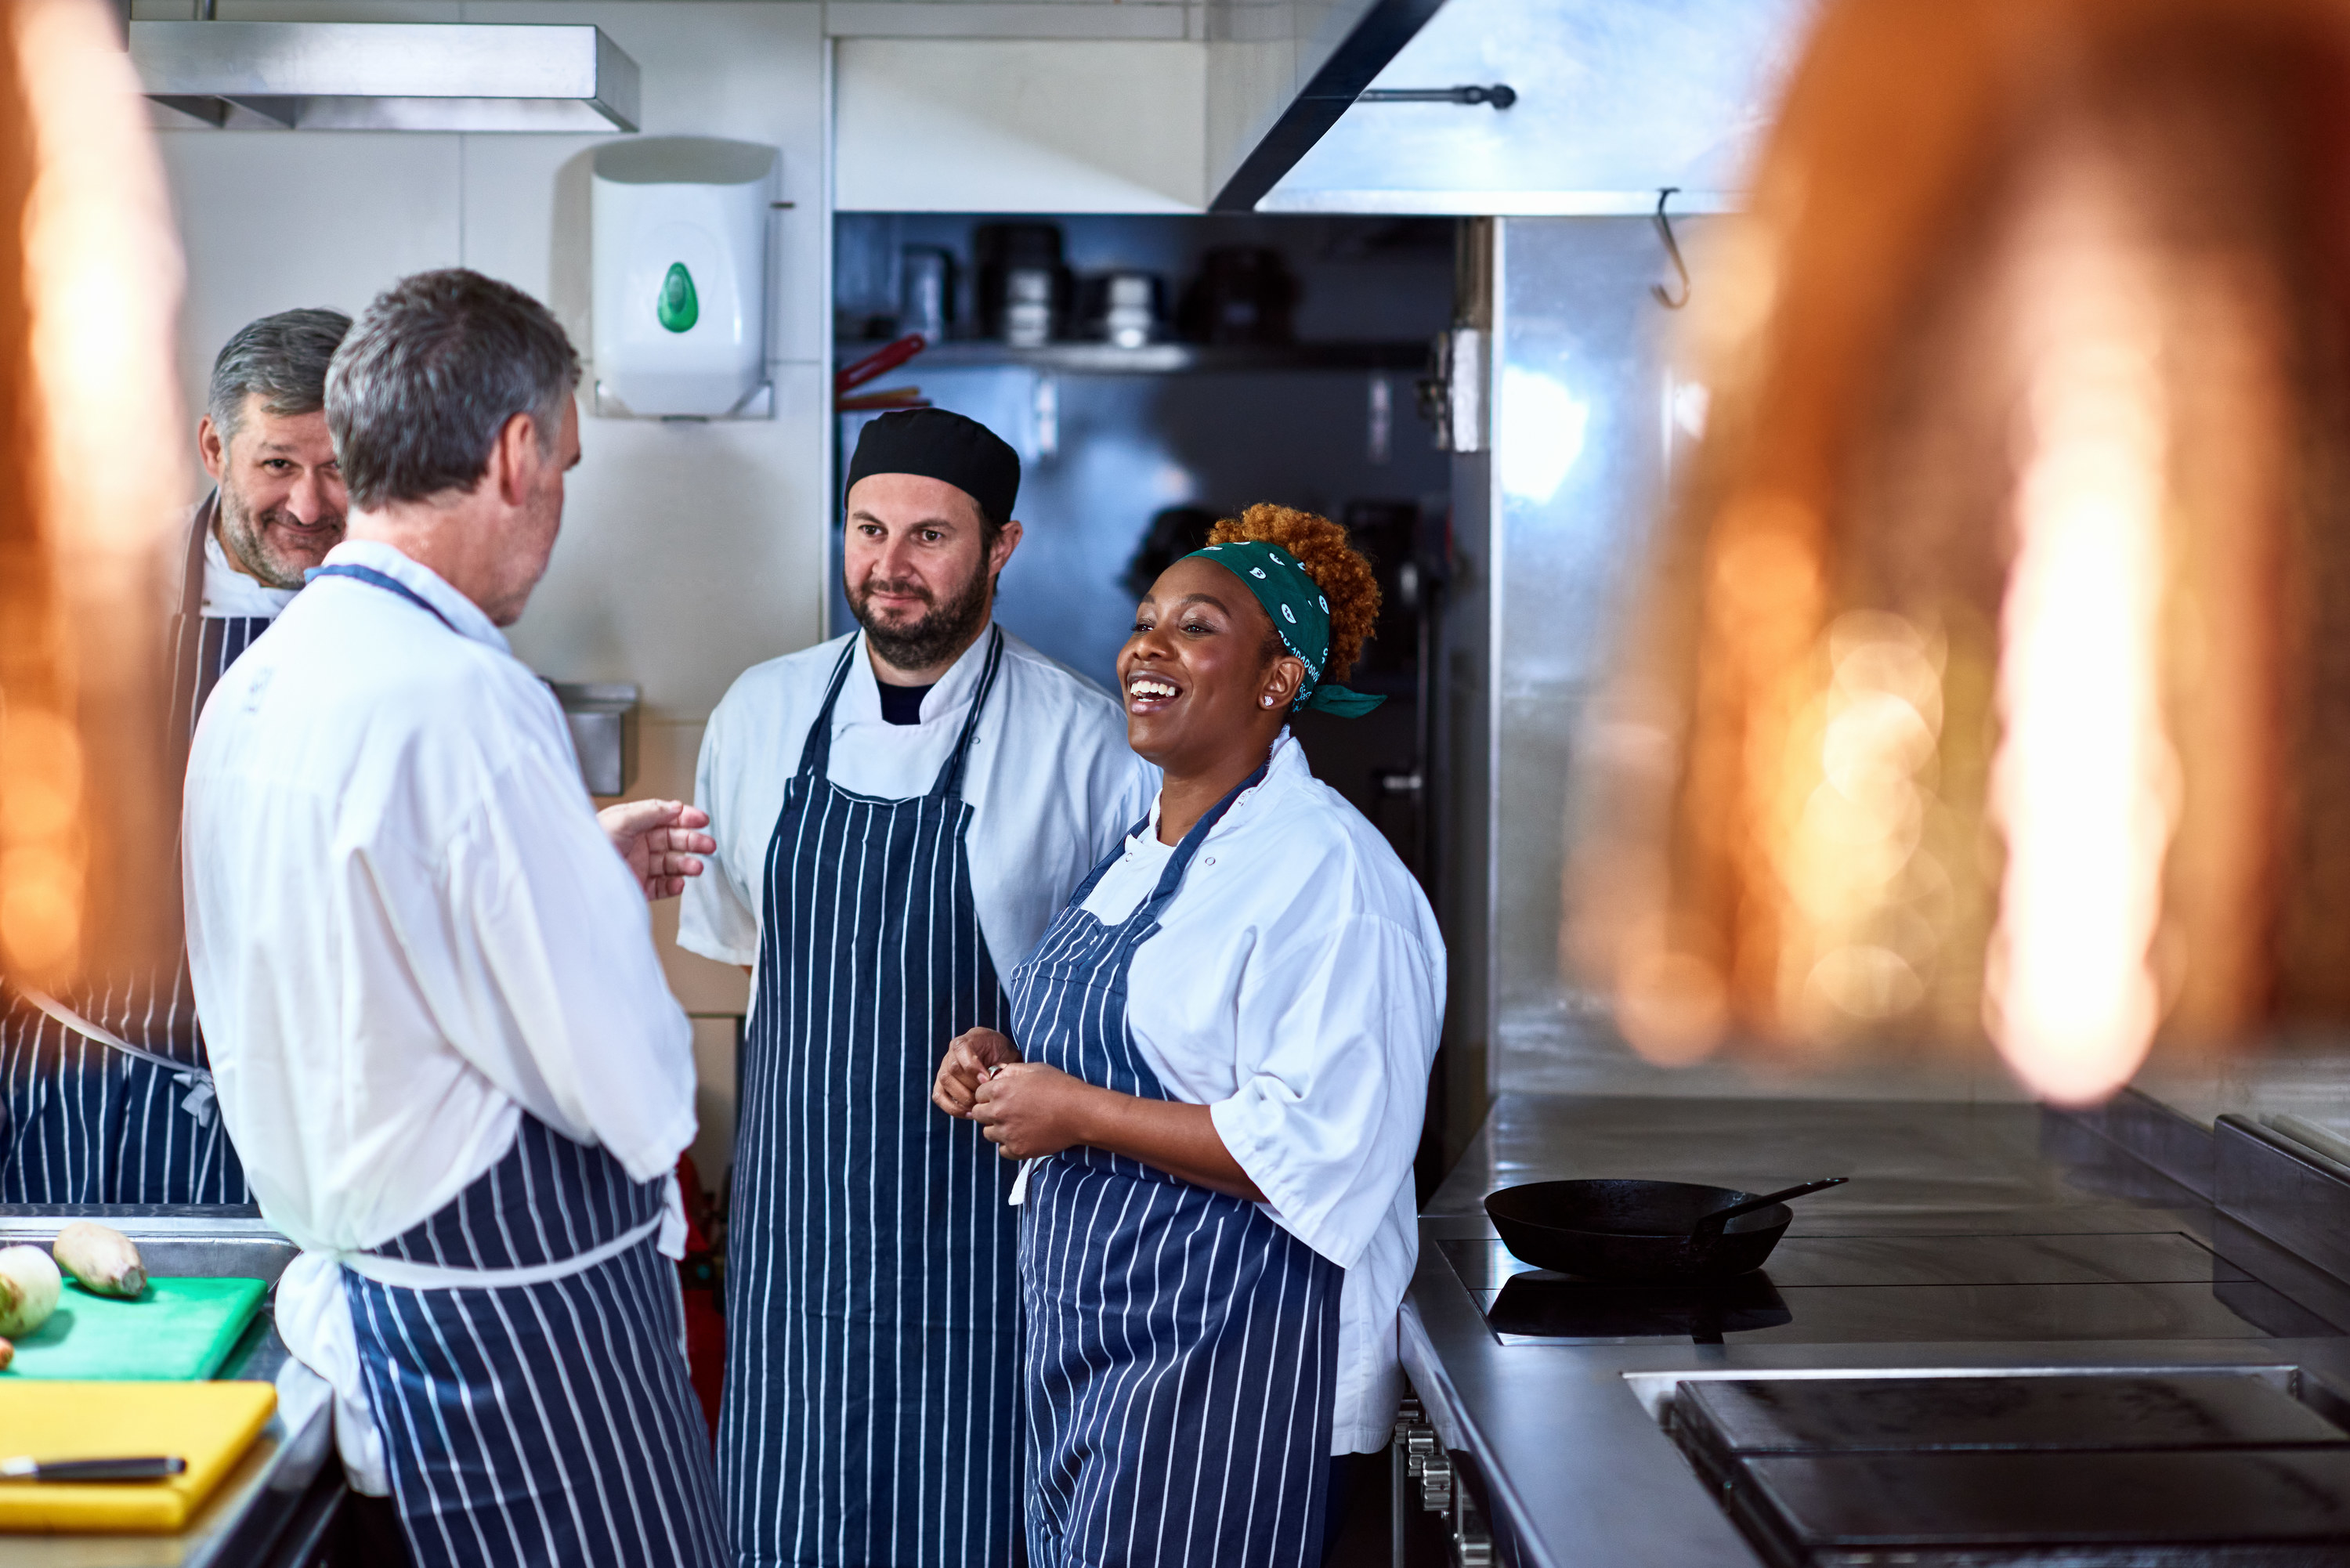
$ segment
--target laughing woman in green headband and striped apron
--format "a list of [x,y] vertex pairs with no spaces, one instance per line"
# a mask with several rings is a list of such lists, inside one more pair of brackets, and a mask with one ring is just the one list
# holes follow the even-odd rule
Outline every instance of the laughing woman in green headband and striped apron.
[[1344,529],[1274,505],[1159,576],[1119,684],[1166,785],[1013,973],[1018,1046],[940,1063],[938,1105],[1036,1161],[1036,1568],[1318,1563],[1394,1422],[1443,938],[1288,731],[1375,705],[1323,675],[1377,604]]

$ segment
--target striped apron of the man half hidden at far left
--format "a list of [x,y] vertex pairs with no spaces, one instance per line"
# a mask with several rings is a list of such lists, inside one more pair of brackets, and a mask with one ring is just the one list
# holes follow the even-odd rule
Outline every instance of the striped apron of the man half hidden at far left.
[[[172,736],[181,745],[228,665],[270,628],[268,616],[202,614],[216,515],[219,491],[195,510],[172,625]],[[157,896],[179,900],[176,860]],[[249,1204],[237,1150],[209,1093],[195,1093],[209,1088],[209,1063],[186,957],[167,976],[80,994],[70,1011],[174,1067],[101,1046],[9,990],[0,1011],[0,1204]]]

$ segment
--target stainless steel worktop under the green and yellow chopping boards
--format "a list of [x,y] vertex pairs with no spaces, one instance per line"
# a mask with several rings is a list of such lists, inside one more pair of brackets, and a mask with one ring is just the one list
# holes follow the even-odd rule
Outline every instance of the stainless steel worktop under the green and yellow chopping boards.
[[[273,1286],[294,1244],[258,1218],[200,1208],[0,1206],[0,1246],[47,1246],[68,1218],[113,1225],[139,1244],[148,1274],[242,1276]],[[228,1380],[275,1382],[277,1413],[195,1523],[179,1535],[0,1535],[0,1568],[244,1568],[303,1512],[334,1462],[334,1399],[327,1382],[287,1356],[270,1300],[228,1352]]]

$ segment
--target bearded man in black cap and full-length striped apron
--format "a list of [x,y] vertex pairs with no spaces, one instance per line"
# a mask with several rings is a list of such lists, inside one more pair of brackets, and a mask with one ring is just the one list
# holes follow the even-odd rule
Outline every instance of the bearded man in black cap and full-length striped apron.
[[924,1105],[1156,783],[1116,701],[994,625],[1020,456],[945,409],[848,463],[858,630],[710,717],[677,940],[754,973],[719,1490],[736,1563],[985,1568],[1020,1535],[1010,1171]]

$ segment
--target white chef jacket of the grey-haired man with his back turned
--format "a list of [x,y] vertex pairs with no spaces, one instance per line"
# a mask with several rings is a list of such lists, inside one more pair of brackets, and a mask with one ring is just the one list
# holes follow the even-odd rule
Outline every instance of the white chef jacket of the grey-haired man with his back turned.
[[329,564],[230,665],[188,757],[188,961],[261,1213],[381,1246],[515,1143],[519,1114],[632,1178],[693,1140],[691,1025],[555,693],[390,545]]

